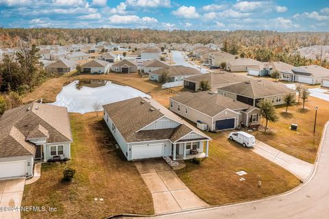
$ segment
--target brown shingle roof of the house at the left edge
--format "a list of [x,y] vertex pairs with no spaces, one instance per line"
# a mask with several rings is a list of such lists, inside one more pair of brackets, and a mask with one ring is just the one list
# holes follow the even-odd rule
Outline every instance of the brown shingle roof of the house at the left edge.
[[66,108],[42,103],[5,111],[0,118],[0,130],[0,157],[23,154],[33,145],[26,141],[30,138],[47,137],[49,143],[73,141]]

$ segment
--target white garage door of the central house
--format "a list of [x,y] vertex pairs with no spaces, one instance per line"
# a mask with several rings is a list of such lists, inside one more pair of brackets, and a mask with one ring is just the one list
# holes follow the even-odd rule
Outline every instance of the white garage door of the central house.
[[132,146],[132,159],[162,157],[163,144]]

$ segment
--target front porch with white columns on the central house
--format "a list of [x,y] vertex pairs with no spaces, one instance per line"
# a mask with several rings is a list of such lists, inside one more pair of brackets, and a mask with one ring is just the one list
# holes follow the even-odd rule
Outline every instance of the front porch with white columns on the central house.
[[173,160],[208,157],[209,140],[174,143],[172,154]]

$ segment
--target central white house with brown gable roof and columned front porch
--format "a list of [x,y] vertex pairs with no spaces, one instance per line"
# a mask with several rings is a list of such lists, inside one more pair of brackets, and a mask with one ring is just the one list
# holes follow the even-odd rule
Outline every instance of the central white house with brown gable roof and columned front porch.
[[208,157],[211,139],[153,99],[136,97],[103,109],[103,118],[127,160]]

